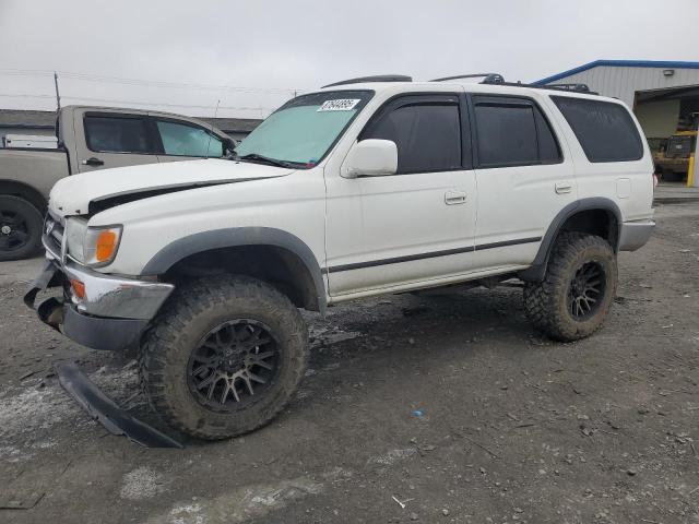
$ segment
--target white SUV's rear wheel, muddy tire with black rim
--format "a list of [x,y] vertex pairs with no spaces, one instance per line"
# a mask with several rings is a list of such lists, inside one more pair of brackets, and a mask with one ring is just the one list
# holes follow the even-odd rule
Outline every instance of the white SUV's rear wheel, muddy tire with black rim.
[[541,283],[524,286],[524,309],[547,336],[571,342],[602,327],[617,285],[616,255],[601,237],[564,233]]

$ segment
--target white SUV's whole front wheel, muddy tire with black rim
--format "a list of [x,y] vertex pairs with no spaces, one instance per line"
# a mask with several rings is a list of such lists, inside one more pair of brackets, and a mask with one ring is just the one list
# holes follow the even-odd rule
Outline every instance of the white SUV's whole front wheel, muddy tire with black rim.
[[272,286],[244,276],[176,291],[140,352],[151,406],[201,439],[252,431],[276,416],[306,371],[308,332]]

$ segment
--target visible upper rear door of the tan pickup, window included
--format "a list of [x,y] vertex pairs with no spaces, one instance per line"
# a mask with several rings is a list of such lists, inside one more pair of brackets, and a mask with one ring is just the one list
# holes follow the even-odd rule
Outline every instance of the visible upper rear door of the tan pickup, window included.
[[145,112],[80,110],[74,129],[80,172],[158,162]]

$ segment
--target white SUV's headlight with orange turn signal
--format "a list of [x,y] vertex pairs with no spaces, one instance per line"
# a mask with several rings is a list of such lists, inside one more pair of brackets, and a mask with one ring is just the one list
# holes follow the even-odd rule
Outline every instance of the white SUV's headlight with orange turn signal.
[[82,218],[69,218],[66,225],[68,254],[93,267],[111,263],[120,239],[121,226],[87,227]]

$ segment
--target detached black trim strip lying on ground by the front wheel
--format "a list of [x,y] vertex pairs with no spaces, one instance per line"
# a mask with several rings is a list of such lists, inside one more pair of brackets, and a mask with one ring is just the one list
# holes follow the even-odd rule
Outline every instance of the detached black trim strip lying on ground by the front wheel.
[[80,370],[73,361],[54,362],[58,381],[87,414],[111,434],[122,434],[146,448],[179,448],[182,444],[155,428],[132,417]]

